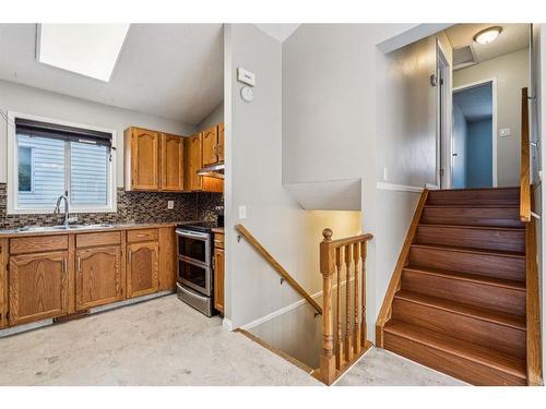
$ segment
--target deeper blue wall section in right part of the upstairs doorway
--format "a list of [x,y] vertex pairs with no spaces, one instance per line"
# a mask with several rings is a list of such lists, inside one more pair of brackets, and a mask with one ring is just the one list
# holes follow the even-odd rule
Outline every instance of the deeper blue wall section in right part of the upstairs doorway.
[[492,187],[492,122],[467,123],[466,188]]

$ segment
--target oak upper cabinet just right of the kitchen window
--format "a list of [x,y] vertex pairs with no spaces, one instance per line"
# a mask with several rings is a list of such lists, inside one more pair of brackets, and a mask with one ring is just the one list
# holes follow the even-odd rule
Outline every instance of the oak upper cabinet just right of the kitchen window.
[[135,191],[183,191],[183,139],[129,128],[124,132],[124,184]]

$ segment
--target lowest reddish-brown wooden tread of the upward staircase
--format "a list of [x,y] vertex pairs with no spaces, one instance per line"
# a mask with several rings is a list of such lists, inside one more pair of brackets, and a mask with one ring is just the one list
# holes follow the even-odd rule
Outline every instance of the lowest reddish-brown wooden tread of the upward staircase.
[[485,366],[526,380],[524,359],[443,335],[420,326],[391,320],[383,327],[385,333],[411,339],[448,353],[459,356]]

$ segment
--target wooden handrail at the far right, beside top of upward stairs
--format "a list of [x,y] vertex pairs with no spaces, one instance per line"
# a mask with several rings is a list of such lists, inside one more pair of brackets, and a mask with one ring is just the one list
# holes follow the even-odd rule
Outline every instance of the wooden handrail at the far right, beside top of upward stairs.
[[521,91],[520,219],[531,220],[531,141],[529,136],[527,88]]

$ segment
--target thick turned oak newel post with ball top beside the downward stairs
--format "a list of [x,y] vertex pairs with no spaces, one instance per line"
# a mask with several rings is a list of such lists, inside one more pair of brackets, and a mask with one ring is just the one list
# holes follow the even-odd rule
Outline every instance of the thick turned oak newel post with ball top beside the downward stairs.
[[323,240],[320,243],[320,272],[322,274],[323,306],[322,306],[322,354],[320,357],[320,372],[325,384],[331,385],[335,378],[335,356],[333,339],[332,313],[332,276],[335,272],[334,248],[332,230],[322,231]]

